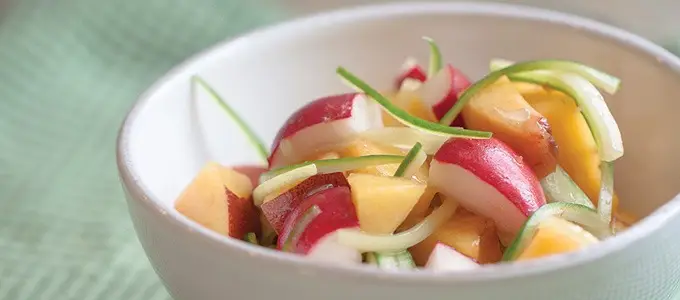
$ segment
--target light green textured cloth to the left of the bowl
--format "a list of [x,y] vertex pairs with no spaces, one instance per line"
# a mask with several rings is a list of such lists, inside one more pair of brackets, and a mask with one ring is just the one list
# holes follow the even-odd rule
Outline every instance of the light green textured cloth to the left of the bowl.
[[127,214],[118,126],[170,67],[283,15],[245,0],[24,0],[0,15],[0,299],[169,298]]

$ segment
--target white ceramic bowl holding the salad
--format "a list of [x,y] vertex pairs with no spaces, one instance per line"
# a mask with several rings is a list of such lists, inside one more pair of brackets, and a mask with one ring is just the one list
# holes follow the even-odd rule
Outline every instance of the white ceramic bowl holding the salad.
[[[479,78],[494,57],[577,60],[619,76],[609,105],[623,132],[622,206],[647,216],[620,236],[568,255],[433,274],[335,268],[215,234],[173,210],[209,160],[255,163],[242,134],[205,93],[199,74],[271,141],[296,108],[347,91],[343,65],[386,87],[420,40]],[[137,234],[176,299],[668,299],[680,288],[680,60],[600,23],[497,4],[392,4],[337,11],[248,34],[196,56],[144,94],[128,116],[118,166]]]

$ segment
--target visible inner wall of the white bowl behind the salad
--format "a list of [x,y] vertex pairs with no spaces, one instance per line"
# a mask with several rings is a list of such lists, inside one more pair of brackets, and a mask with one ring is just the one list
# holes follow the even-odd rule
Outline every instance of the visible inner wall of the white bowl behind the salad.
[[260,31],[213,48],[157,85],[130,119],[123,151],[150,198],[173,213],[174,199],[207,161],[263,163],[210,96],[192,89],[191,76],[204,78],[270,142],[295,109],[349,91],[337,66],[386,88],[406,57],[427,61],[427,35],[473,79],[496,57],[570,59],[620,77],[619,93],[606,97],[626,148],[616,190],[625,210],[645,216],[679,191],[678,70],[637,39],[572,21],[510,7],[450,6],[336,14]]

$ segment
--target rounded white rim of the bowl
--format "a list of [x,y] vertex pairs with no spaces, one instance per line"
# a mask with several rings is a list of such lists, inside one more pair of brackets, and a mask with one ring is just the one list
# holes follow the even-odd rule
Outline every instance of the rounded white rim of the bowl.
[[[278,266],[289,268],[308,274],[323,273],[328,278],[339,276],[366,283],[389,282],[400,284],[440,285],[452,282],[484,282],[509,278],[521,278],[535,275],[545,275],[549,272],[557,272],[567,268],[575,268],[599,260],[607,255],[620,252],[630,244],[639,242],[648,235],[663,228],[672,217],[680,215],[680,194],[652,214],[640,220],[616,238],[601,241],[587,251],[576,251],[546,258],[528,260],[514,263],[499,263],[485,265],[474,271],[436,273],[427,270],[413,272],[385,272],[376,268],[364,266],[335,266],[310,261],[304,257],[281,253],[264,247],[249,245],[233,238],[229,238],[213,232],[203,226],[183,217],[174,210],[166,210],[153,193],[139,180],[138,174],[132,166],[129,154],[129,135],[133,131],[135,120],[147,105],[150,99],[165,85],[176,77],[183,76],[188,69],[200,65],[202,61],[226,51],[230,48],[247,47],[251,40],[275,39],[277,36],[297,34],[301,31],[315,31],[313,24],[334,22],[342,26],[356,20],[371,20],[390,18],[401,15],[418,14],[446,14],[446,15],[486,15],[504,18],[517,18],[537,22],[549,22],[562,26],[571,27],[598,38],[607,39],[618,43],[623,47],[641,52],[647,56],[653,56],[664,67],[670,69],[680,77],[680,58],[671,54],[661,46],[652,43],[640,36],[629,33],[588,18],[575,16],[568,13],[556,12],[548,9],[535,8],[525,5],[502,4],[502,3],[474,3],[474,2],[417,2],[417,3],[388,3],[361,5],[352,8],[337,9],[295,18],[282,23],[265,26],[250,32],[246,32],[235,38],[217,43],[200,51],[184,62],[172,68],[169,72],[158,79],[144,93],[142,93],[123,121],[117,139],[116,162],[119,176],[124,188],[128,190],[128,205],[137,202],[144,208],[152,211],[158,217],[167,222],[168,226],[185,231],[187,234],[198,235],[210,246],[219,247],[223,251],[230,252],[237,259],[240,257],[263,260],[262,262],[272,267]],[[129,199],[132,198],[132,199]],[[148,255],[148,254],[147,254]]]

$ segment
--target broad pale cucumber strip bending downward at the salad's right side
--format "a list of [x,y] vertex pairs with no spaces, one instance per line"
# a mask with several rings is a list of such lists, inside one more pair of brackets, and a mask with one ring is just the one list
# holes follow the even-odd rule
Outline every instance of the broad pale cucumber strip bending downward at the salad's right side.
[[[544,66],[544,70],[542,71],[508,72],[507,75],[510,80],[547,85],[569,95],[576,101],[576,104],[581,109],[583,117],[588,123],[588,127],[590,127],[590,131],[593,133],[595,142],[597,142],[598,145],[600,159],[611,162],[623,156],[623,140],[621,139],[619,126],[616,124],[616,120],[609,111],[602,94],[595,88],[593,83],[586,80],[586,78],[588,78],[586,75],[590,73],[585,71],[591,70],[596,72],[603,77],[601,79],[609,78],[612,82],[607,84],[605,84],[606,82],[599,82],[599,85],[603,89],[611,91],[610,93],[616,91],[618,79],[582,65],[580,66],[587,69],[582,69],[582,72],[577,72],[577,70],[567,68],[561,63],[564,62],[555,64],[555,61],[547,61],[547,65]],[[522,64],[526,63],[513,65],[512,62],[495,60],[492,62],[492,67],[503,67],[503,69],[494,71],[491,74],[507,72],[507,70],[515,68],[516,66],[521,67]],[[573,74],[569,72],[573,72]],[[592,82],[598,82],[595,80],[596,78],[589,79],[593,80]]]

